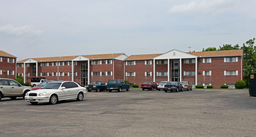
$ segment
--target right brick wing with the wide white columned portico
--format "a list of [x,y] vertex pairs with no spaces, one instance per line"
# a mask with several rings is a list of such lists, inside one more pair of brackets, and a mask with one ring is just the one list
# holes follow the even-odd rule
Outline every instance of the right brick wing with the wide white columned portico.
[[234,88],[243,80],[243,50],[181,52],[132,55],[124,60],[125,80],[141,85],[145,81],[189,81],[220,88]]

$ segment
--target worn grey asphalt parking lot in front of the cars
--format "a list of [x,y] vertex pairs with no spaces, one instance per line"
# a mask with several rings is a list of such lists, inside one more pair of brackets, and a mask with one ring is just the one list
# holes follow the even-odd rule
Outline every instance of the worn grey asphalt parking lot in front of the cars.
[[256,135],[256,97],[237,89],[90,92],[56,105],[2,98],[0,114],[1,137]]

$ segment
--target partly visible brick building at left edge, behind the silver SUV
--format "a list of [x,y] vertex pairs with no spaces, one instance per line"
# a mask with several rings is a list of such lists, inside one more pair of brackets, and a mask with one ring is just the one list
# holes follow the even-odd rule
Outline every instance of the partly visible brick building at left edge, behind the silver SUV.
[[0,50],[0,78],[16,78],[17,57]]

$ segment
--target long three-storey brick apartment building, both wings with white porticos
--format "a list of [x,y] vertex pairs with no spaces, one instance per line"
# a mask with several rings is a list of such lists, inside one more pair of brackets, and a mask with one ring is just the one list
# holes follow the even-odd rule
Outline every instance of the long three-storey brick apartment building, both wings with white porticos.
[[109,79],[124,79],[139,86],[145,81],[189,81],[193,87],[202,84],[220,88],[226,84],[234,88],[236,81],[243,80],[243,50],[32,58],[18,61],[17,73],[26,82],[32,76],[43,76],[83,85],[96,80],[106,83]]

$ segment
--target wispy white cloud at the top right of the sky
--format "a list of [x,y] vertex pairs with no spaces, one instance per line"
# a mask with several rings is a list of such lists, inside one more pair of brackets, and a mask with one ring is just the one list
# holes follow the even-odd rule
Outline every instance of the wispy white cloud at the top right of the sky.
[[186,4],[174,5],[171,14],[219,14],[234,6],[234,0],[200,0]]

